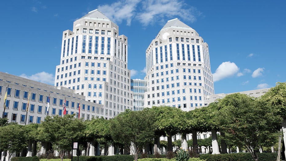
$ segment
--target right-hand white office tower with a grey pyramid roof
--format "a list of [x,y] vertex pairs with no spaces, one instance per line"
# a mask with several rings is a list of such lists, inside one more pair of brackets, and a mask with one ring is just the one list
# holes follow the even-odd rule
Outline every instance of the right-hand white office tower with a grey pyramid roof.
[[178,18],[169,20],[146,50],[145,106],[190,111],[214,94],[209,46]]

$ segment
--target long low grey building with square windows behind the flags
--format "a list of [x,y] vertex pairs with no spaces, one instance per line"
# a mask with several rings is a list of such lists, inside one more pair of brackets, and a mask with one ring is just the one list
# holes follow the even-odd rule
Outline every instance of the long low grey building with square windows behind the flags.
[[[76,114],[80,103],[80,118],[85,120],[104,116],[100,113],[103,105],[88,102],[82,95],[75,94],[73,90],[65,87],[54,87],[45,83],[36,82],[26,78],[0,72],[0,113],[4,112],[4,96],[7,90],[6,109],[4,117],[9,122],[25,125],[41,123],[47,116],[48,98],[49,116],[63,115],[63,103],[66,100],[67,114]],[[30,93],[30,102],[27,103]],[[26,122],[27,116],[27,122]]]

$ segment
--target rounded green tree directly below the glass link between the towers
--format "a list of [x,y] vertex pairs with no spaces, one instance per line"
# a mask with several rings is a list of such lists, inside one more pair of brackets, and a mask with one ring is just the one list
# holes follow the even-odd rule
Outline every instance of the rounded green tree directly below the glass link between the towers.
[[154,138],[155,118],[150,109],[120,113],[111,119],[111,135],[115,141],[124,143],[134,160],[137,161],[140,150]]

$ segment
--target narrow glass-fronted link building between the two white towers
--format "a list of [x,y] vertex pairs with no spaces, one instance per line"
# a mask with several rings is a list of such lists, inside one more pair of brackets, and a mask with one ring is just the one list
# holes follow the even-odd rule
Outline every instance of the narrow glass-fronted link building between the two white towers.
[[131,91],[133,91],[134,111],[143,110],[144,93],[147,91],[147,81],[142,79],[131,79]]

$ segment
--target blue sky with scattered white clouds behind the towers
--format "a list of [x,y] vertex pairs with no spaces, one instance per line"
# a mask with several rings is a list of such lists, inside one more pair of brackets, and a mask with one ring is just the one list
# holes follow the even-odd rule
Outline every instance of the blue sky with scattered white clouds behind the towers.
[[54,84],[62,32],[99,9],[128,37],[131,78],[145,76],[145,51],[164,24],[179,18],[209,44],[215,93],[285,82],[286,1],[2,1],[0,71]]

